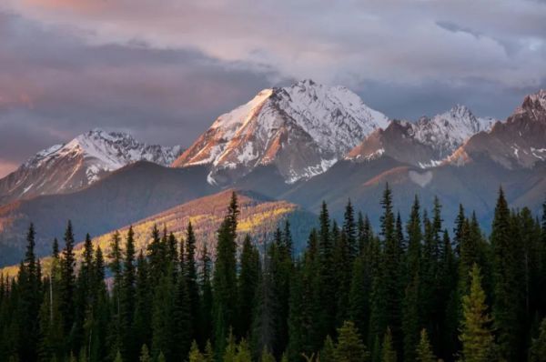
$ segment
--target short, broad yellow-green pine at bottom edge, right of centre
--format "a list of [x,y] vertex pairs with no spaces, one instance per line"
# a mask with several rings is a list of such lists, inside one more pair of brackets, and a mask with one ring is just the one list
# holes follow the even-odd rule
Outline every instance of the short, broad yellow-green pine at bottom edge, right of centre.
[[337,362],[362,362],[369,358],[369,353],[362,343],[359,331],[350,321],[346,321],[338,329],[338,344],[334,351],[334,357]]

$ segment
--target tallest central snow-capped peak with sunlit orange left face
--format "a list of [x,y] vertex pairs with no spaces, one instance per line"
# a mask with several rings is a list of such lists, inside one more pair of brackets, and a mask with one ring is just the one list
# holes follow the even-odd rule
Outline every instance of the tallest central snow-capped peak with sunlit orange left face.
[[349,89],[306,80],[264,89],[219,116],[173,166],[207,165],[208,182],[228,185],[274,165],[287,183],[319,175],[388,118]]

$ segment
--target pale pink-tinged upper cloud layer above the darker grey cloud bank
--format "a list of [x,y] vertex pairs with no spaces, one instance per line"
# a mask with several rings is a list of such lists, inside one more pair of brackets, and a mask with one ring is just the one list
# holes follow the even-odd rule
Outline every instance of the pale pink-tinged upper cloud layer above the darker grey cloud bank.
[[457,85],[480,77],[524,86],[546,77],[539,1],[7,0],[5,7],[83,29],[91,43],[197,49],[328,83]]

